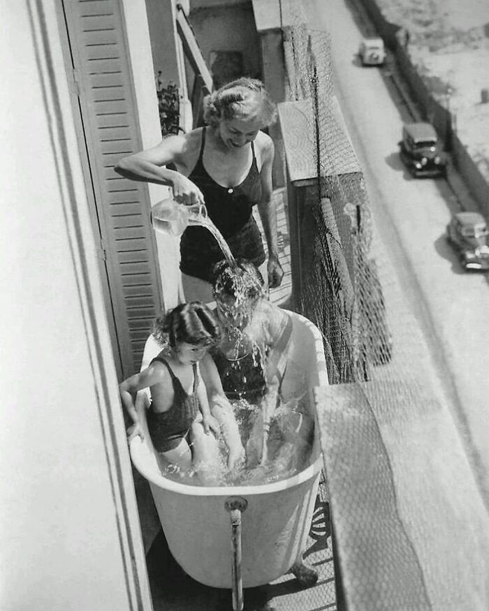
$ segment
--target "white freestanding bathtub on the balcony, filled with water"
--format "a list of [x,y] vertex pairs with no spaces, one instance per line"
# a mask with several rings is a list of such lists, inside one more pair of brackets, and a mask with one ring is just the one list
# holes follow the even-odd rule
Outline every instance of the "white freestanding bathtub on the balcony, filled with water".
[[[323,341],[319,330],[303,316],[289,312],[293,321],[291,362],[299,362],[309,388],[328,384]],[[159,352],[147,340],[143,367]],[[284,392],[293,390],[296,376],[284,378]],[[230,514],[225,501],[239,496],[247,501],[241,516],[242,584],[255,587],[284,575],[300,559],[307,543],[322,466],[316,408],[309,391],[309,407],[316,422],[309,466],[297,475],[258,486],[199,487],[161,476],[149,434],[131,441],[131,459],[148,480],[170,552],[185,572],[211,587],[232,588],[233,546]],[[147,405],[138,393],[138,411]]]

